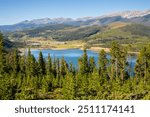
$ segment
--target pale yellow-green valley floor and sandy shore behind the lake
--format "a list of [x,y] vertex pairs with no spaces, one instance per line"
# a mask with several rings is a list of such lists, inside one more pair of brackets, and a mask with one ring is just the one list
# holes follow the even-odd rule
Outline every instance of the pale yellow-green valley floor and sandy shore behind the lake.
[[[26,42],[26,47],[19,48],[20,52],[25,52],[26,48],[30,47],[32,50],[67,50],[67,49],[81,49],[83,50],[86,47],[86,42],[81,40],[74,40],[74,41],[53,41],[53,40],[41,40],[41,39],[34,39]],[[88,47],[88,50],[92,50],[95,52],[100,52],[100,50],[105,50],[107,53],[110,52],[110,48],[108,47],[100,47],[94,46]],[[139,52],[129,52],[131,54],[138,54]]]

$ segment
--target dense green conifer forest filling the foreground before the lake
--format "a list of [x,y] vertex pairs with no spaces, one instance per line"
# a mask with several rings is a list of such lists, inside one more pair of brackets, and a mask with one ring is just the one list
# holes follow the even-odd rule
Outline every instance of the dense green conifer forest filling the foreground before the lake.
[[85,49],[74,67],[64,57],[7,51],[0,34],[0,99],[150,99],[150,45],[138,54],[134,75],[126,48],[113,42],[106,55],[101,50],[96,63]]

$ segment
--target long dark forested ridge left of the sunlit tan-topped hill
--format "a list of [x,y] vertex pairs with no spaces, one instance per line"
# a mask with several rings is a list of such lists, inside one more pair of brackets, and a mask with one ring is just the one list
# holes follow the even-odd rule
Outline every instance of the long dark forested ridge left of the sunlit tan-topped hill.
[[53,39],[58,41],[69,41],[85,39],[101,31],[100,26],[76,27],[69,25],[52,25],[24,31],[7,32],[8,39],[21,41],[30,38]]

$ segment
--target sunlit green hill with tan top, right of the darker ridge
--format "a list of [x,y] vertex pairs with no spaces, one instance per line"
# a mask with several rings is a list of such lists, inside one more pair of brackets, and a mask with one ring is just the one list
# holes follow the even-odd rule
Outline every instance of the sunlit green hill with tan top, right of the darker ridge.
[[87,46],[101,44],[101,47],[111,47],[112,41],[118,41],[124,46],[130,44],[132,51],[139,51],[150,43],[150,27],[141,24],[111,24],[102,32],[90,36]]

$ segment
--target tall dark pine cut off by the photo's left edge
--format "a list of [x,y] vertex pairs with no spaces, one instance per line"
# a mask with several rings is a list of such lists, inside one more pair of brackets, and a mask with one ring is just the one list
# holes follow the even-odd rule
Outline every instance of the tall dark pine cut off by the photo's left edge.
[[3,35],[0,33],[0,99],[15,99],[16,82],[11,79],[11,75],[6,67],[6,52],[4,49]]

